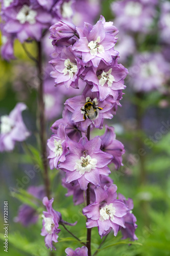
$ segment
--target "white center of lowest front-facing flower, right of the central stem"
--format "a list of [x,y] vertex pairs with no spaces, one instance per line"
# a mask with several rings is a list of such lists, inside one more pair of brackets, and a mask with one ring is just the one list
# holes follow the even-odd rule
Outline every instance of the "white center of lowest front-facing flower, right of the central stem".
[[113,204],[109,204],[104,206],[103,208],[100,209],[100,221],[105,221],[105,220],[114,220],[114,215],[115,215],[115,207],[113,207]]

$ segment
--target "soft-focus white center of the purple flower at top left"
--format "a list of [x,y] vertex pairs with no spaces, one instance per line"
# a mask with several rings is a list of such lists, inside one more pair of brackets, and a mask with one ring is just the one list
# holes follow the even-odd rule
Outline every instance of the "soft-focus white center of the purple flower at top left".
[[31,25],[36,23],[35,17],[37,16],[37,12],[30,9],[28,5],[23,5],[20,11],[18,12],[16,18],[19,20],[21,24],[25,24],[26,22]]

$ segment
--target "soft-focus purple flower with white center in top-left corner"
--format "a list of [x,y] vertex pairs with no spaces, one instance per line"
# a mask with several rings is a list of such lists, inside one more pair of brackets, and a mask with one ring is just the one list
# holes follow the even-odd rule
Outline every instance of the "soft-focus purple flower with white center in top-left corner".
[[31,1],[26,4],[17,2],[8,8],[2,9],[2,19],[5,20],[4,31],[15,36],[21,41],[28,38],[40,40],[42,30],[50,27],[52,15],[40,5],[33,5]]

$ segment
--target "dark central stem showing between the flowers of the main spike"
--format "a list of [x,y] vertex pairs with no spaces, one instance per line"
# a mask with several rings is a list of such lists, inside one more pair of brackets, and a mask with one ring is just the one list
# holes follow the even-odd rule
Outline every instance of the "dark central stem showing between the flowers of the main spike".
[[[90,140],[90,125],[87,128],[87,139]],[[88,183],[86,191],[86,205],[90,204],[90,183]],[[91,256],[91,228],[87,228],[87,243],[86,247],[88,249],[88,256]]]

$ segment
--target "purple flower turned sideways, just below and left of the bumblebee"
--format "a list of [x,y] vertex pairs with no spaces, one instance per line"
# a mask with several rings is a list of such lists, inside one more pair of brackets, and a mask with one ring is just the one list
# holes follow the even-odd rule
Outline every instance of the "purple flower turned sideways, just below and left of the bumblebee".
[[[65,127],[65,132],[66,135],[68,136],[69,139],[79,141],[80,138],[82,137],[81,135],[85,135],[82,131],[79,130],[79,127],[77,124],[73,121],[71,121],[72,118],[72,113],[66,109],[66,107],[63,110],[62,114],[63,118],[58,119],[55,121],[51,127],[51,130],[53,133],[57,133],[59,124],[64,124],[66,125]],[[79,125],[80,126],[80,125]]]

